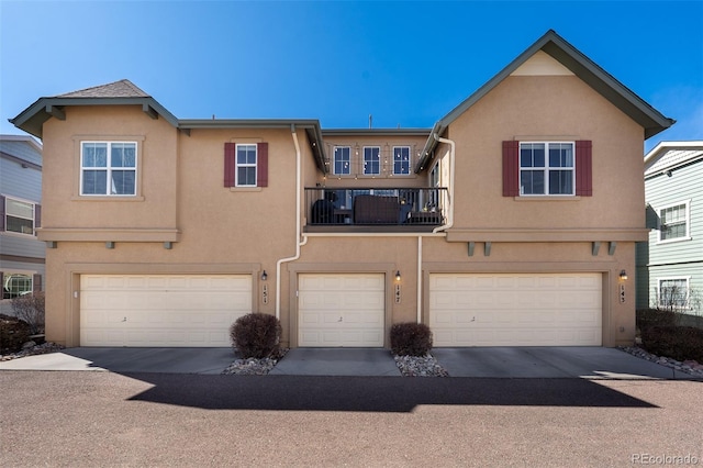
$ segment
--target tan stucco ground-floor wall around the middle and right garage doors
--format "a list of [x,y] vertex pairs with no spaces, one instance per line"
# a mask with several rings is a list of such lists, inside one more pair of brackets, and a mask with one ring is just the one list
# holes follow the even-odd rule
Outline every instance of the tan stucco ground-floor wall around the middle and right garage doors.
[[[625,302],[620,301],[618,274],[634,271],[634,243],[618,243],[613,255],[607,244],[593,255],[592,244],[580,243],[494,243],[487,255],[477,243],[469,256],[468,243],[448,243],[443,236],[422,237],[421,276],[417,275],[417,237],[354,236],[310,237],[301,258],[288,266],[291,288],[302,272],[383,272],[387,275],[387,322],[413,322],[417,319],[417,288],[421,288],[421,320],[428,323],[428,275],[434,272],[596,272],[602,275],[603,345],[632,343],[635,336],[634,282],[626,280]],[[393,275],[400,271],[401,301],[394,302]],[[632,276],[631,276],[632,278]],[[295,345],[297,307],[289,297],[291,322],[288,332]],[[388,337],[387,337],[388,338]]]

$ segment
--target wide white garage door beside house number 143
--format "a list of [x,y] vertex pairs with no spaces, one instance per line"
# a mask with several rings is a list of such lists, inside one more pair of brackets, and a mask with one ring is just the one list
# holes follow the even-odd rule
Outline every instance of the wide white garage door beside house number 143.
[[435,346],[600,346],[600,274],[429,275]]

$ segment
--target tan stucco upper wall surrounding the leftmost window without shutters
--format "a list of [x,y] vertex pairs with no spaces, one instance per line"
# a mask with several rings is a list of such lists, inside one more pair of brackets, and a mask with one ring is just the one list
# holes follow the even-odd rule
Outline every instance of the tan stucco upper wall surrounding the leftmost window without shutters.
[[[43,227],[175,230],[177,131],[138,107],[67,108],[65,112],[66,120],[51,119],[44,125],[44,168],[51,177],[42,188]],[[137,142],[137,197],[80,196],[82,141]],[[51,234],[40,236],[53,239]]]

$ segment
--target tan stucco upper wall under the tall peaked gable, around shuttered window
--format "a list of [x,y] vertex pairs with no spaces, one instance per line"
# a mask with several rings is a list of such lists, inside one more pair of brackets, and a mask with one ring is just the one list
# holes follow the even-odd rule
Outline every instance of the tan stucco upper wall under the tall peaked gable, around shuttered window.
[[[576,77],[509,77],[448,130],[457,144],[455,227],[644,226],[643,129]],[[593,197],[502,197],[509,140],[593,142]]]

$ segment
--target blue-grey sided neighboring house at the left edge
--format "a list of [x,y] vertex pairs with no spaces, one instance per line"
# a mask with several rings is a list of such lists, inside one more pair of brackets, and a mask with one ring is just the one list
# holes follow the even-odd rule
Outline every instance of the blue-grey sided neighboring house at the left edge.
[[42,214],[42,146],[29,135],[0,135],[0,312],[10,299],[41,291],[45,244],[36,238]]

